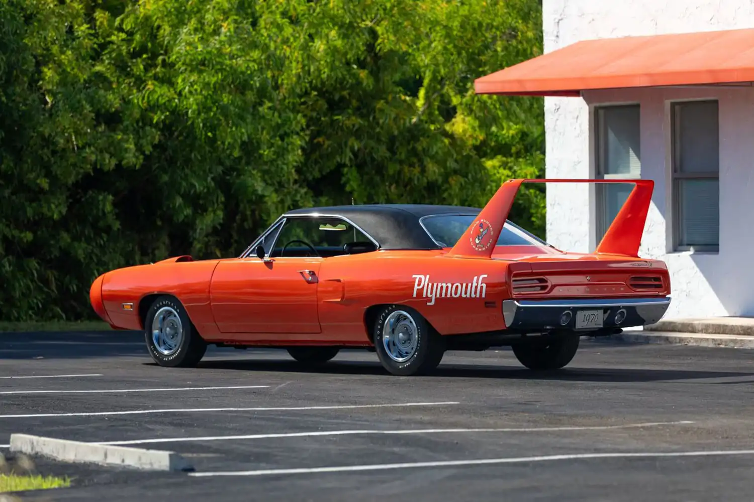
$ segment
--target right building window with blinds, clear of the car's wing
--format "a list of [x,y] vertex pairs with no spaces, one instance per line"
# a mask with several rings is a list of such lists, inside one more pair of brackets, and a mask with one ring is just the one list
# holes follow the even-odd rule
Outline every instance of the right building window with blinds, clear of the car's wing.
[[718,104],[674,103],[672,113],[675,248],[716,252],[720,241]]

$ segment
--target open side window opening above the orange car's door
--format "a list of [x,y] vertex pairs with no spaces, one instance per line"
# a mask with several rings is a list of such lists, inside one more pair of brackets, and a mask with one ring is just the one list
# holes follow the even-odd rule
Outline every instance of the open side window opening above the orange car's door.
[[346,254],[346,245],[371,242],[340,218],[288,218],[277,236],[272,257],[331,257]]

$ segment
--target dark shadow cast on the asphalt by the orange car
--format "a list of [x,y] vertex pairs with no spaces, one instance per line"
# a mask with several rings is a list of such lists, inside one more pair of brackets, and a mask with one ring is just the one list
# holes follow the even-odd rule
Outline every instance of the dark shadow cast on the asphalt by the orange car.
[[[268,371],[274,373],[314,373],[329,375],[385,376],[387,371],[378,362],[331,361],[318,367],[308,367],[296,361],[279,360],[212,360],[202,361],[199,368],[213,370]],[[556,371],[531,371],[523,367],[480,364],[440,364],[431,375],[412,378],[476,378],[559,380],[573,382],[657,382],[663,380],[719,379],[754,377],[752,372],[700,370],[647,370],[634,368],[578,368],[566,367]],[[746,383],[746,382],[741,382]]]

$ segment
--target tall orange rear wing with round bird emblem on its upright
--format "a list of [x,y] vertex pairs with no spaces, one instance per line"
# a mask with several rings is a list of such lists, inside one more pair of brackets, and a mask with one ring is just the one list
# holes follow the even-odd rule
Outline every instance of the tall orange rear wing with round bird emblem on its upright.
[[449,255],[469,258],[489,258],[495,250],[495,242],[500,236],[503,225],[508,218],[513,198],[522,183],[630,183],[633,190],[629,194],[621,211],[599,242],[595,253],[622,254],[627,257],[639,256],[639,245],[644,234],[649,204],[654,190],[652,180],[589,180],[589,179],[512,179],[498,188],[489,199],[477,219],[458,239]]

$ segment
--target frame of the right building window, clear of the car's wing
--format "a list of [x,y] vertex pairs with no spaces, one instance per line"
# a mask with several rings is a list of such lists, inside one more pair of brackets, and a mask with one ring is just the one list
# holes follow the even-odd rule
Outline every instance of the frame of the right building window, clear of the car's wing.
[[[683,105],[690,103],[711,103],[714,102],[718,107],[718,170],[705,171],[705,172],[680,172],[680,129],[677,126],[679,120],[679,111]],[[720,150],[719,150],[719,135],[720,135],[720,102],[716,98],[705,99],[684,99],[670,102],[670,187],[671,187],[671,203],[673,204],[673,251],[678,252],[691,252],[691,253],[710,253],[718,254],[720,252],[720,215],[719,215],[719,202],[718,202],[718,242],[717,245],[681,245],[681,199],[680,199],[680,181],[682,180],[694,180],[694,179],[716,179],[718,181],[718,190],[720,183]]]

